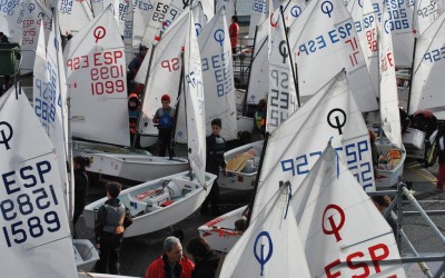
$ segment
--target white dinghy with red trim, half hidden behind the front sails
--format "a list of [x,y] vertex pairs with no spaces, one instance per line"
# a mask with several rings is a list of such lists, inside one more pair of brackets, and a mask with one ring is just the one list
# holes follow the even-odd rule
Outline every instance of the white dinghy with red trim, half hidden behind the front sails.
[[247,206],[219,216],[198,228],[199,236],[207,240],[211,249],[228,252],[240,238],[235,231],[235,221],[241,219]]

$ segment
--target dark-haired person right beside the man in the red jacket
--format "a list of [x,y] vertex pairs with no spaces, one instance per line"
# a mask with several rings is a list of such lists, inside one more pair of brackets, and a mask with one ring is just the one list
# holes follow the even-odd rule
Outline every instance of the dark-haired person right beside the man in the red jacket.
[[210,249],[210,245],[204,238],[194,238],[187,245],[187,252],[195,261],[192,278],[212,278],[219,264],[219,255]]

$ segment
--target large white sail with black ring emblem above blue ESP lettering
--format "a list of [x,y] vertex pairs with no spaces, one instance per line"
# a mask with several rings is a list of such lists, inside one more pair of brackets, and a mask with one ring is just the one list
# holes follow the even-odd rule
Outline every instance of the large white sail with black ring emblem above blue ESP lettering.
[[344,71],[270,133],[253,208],[256,217],[278,187],[267,180],[288,180],[297,188],[330,140],[360,188],[375,190],[368,130]]

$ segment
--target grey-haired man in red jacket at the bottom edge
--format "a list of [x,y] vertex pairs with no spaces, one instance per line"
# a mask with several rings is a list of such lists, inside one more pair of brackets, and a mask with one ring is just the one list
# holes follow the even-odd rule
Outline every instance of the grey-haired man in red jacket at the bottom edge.
[[144,278],[191,278],[195,264],[182,255],[178,238],[168,237],[164,241],[164,254],[151,262]]

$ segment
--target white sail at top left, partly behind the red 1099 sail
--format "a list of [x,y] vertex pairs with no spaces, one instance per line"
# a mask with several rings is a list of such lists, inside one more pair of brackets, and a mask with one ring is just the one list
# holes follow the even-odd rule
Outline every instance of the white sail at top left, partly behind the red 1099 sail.
[[63,36],[76,34],[93,18],[90,1],[58,1],[59,26]]

